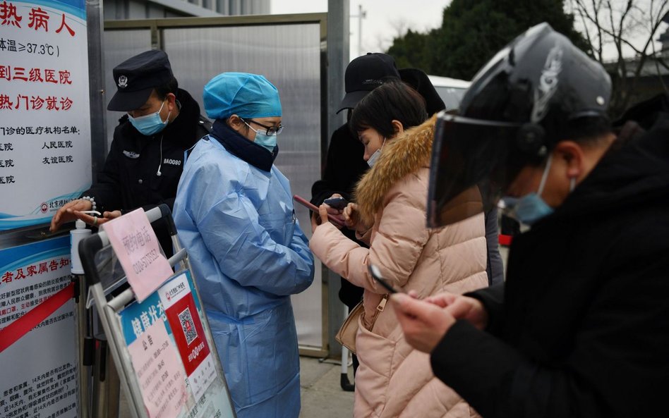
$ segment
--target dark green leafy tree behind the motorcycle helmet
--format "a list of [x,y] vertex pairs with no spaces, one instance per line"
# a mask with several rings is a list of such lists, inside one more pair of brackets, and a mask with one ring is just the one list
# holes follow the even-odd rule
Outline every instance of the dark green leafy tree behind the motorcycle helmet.
[[435,75],[469,80],[495,52],[537,23],[548,22],[587,49],[574,30],[563,0],[453,0],[441,27],[427,33],[406,32],[387,53],[400,67],[413,66]]

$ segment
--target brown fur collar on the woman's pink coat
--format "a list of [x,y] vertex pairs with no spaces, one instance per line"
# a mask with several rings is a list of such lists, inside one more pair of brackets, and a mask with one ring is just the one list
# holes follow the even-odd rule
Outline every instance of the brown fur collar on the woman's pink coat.
[[388,142],[376,164],[356,185],[356,202],[361,219],[372,223],[374,214],[381,209],[383,197],[402,178],[430,165],[436,116],[422,125],[405,130]]

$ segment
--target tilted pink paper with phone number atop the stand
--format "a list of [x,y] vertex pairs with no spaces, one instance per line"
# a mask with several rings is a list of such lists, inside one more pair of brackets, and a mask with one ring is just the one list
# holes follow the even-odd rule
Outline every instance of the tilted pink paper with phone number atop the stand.
[[138,302],[145,300],[174,272],[160,252],[160,244],[144,209],[112,219],[102,225],[111,247],[128,276]]

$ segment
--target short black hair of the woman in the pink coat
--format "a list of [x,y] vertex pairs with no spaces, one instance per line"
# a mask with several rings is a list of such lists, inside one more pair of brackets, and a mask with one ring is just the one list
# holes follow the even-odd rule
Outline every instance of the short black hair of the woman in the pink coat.
[[404,129],[420,125],[428,118],[425,99],[405,82],[389,80],[369,92],[353,109],[349,128],[357,133],[373,128],[383,137],[393,137],[392,121],[402,123]]

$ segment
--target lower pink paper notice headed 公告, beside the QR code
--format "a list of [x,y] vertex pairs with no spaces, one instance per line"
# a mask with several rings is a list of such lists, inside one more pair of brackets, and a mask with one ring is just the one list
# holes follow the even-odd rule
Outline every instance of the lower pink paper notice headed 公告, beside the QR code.
[[186,381],[163,321],[156,321],[128,345],[150,418],[176,418],[186,404]]

